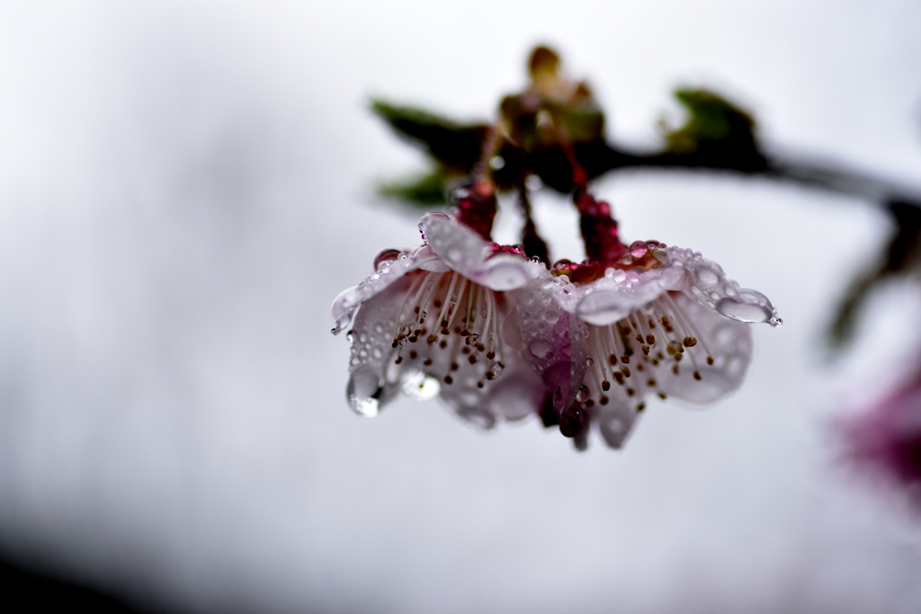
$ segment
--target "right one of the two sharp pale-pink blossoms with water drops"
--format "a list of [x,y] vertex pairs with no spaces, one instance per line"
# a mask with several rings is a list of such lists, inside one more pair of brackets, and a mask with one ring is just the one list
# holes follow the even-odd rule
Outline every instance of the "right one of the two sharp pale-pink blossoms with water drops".
[[517,306],[525,355],[580,449],[591,423],[622,446],[650,396],[708,403],[735,390],[752,353],[746,323],[782,323],[764,295],[690,249],[636,241],[617,253],[610,266],[557,262]]

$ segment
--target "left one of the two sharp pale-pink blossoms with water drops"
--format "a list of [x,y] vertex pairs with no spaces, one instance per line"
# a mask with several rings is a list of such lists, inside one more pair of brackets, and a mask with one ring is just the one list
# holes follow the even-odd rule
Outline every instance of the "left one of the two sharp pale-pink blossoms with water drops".
[[350,405],[373,416],[401,392],[440,395],[484,428],[536,412],[541,382],[504,342],[503,328],[513,307],[508,291],[546,269],[444,214],[426,215],[419,228],[422,246],[381,252],[377,272],[333,304],[333,333],[355,317]]

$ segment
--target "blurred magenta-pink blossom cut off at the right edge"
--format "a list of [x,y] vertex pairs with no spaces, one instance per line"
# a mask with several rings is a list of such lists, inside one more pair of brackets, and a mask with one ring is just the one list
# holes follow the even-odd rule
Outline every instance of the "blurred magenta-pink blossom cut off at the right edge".
[[847,457],[921,514],[921,377],[840,428]]

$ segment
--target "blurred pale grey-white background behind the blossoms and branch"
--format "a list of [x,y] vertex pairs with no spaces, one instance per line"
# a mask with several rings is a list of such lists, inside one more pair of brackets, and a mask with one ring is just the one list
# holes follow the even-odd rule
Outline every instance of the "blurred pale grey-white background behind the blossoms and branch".
[[[597,182],[626,240],[703,252],[785,320],[754,328],[739,392],[653,403],[620,452],[437,401],[359,418],[329,316],[418,243],[376,186],[423,158],[371,97],[490,121],[551,44],[622,144],[655,149],[671,90],[712,87],[768,151],[917,189],[918,23],[908,0],[3,3],[0,556],[151,612],[918,611],[921,531],[830,426],[921,343],[916,290],[886,284],[829,360],[891,232],[871,203]],[[534,207],[580,260],[565,199]]]

